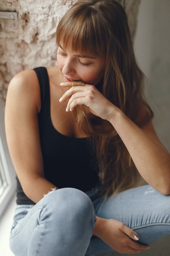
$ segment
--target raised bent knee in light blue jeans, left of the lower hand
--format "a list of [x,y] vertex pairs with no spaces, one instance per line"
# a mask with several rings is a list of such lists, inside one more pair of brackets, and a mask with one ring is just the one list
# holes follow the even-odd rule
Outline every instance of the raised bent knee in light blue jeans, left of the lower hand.
[[73,188],[51,191],[33,207],[17,207],[10,234],[11,251],[17,256],[33,255],[35,249],[42,251],[36,255],[47,255],[46,251],[63,255],[57,250],[67,245],[69,250],[69,244],[72,247],[76,240],[72,254],[66,255],[77,255],[79,247],[85,253],[95,221],[93,203],[84,192]]

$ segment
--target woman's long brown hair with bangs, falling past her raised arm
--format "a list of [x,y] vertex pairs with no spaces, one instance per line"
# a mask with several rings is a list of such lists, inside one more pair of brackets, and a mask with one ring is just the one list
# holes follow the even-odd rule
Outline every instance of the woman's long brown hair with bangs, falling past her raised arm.
[[[104,76],[97,89],[139,127],[153,117],[144,99],[144,74],[135,60],[126,13],[115,0],[79,0],[69,9],[56,30],[57,45],[73,51],[105,56]],[[147,115],[139,120],[141,107]],[[89,114],[85,106],[72,112],[79,127],[91,135],[106,199],[139,185],[141,176],[123,141],[110,122]]]

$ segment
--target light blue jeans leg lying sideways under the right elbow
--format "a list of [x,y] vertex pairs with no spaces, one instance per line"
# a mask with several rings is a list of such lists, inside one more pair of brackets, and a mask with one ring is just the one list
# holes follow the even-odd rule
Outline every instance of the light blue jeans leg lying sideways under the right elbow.
[[[170,195],[150,185],[128,189],[102,201],[96,215],[125,223],[140,235],[140,243],[151,243],[170,234]],[[91,239],[88,255],[113,252],[100,238]]]

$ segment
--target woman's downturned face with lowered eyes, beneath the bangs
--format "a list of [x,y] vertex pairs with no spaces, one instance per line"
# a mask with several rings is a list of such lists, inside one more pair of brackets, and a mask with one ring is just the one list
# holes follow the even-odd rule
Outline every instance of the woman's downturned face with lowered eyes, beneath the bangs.
[[63,49],[61,44],[57,50],[57,64],[65,82],[81,80],[97,85],[104,73],[105,59],[92,54],[82,55],[79,52],[73,52],[69,45]]

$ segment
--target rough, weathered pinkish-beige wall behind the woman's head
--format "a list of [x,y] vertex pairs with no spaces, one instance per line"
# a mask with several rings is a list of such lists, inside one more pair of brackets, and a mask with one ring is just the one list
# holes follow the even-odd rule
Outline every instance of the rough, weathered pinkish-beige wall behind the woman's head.
[[[55,30],[76,0],[1,0],[0,11],[18,19],[0,19],[0,97],[5,101],[11,78],[22,70],[56,63]],[[140,0],[118,0],[128,14],[132,38]]]

